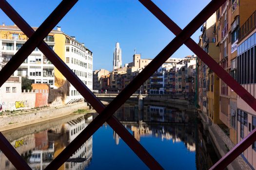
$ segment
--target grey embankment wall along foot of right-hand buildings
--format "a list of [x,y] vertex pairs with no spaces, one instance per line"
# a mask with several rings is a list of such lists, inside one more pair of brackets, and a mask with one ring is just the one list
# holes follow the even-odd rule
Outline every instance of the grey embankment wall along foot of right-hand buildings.
[[[198,111],[198,116],[202,121],[204,130],[211,135],[212,142],[215,144],[215,148],[221,157],[234,148],[235,144],[217,124],[211,123],[208,117],[200,111]],[[251,170],[250,166],[245,162],[241,155],[229,164],[227,168],[228,170]]]

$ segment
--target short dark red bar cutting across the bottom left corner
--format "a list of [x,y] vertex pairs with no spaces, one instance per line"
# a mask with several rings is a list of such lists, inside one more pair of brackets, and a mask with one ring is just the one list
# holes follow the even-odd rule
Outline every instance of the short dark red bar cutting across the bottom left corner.
[[31,170],[11,143],[0,133],[0,150],[11,161],[17,170]]

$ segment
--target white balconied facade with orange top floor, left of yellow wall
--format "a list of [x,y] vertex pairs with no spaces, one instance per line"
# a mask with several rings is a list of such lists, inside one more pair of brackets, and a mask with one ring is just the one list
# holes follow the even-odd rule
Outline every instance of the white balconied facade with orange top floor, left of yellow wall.
[[[27,38],[22,35],[17,26],[0,25],[0,35],[0,65],[3,67],[20,50]],[[53,35],[48,35],[45,42],[54,49]],[[13,75],[28,76],[29,79],[33,80],[33,83],[45,83],[54,88],[54,65],[38,48],[32,51]]]

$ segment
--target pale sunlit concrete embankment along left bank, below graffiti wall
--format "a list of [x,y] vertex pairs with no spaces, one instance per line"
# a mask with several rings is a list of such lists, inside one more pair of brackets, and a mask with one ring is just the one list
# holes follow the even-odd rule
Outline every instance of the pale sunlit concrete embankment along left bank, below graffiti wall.
[[78,109],[89,109],[85,102],[68,104],[54,108],[44,108],[30,113],[20,113],[19,115],[9,115],[0,118],[0,132],[19,128],[22,126],[39,123],[51,119],[56,119],[72,114]]

